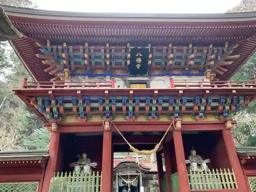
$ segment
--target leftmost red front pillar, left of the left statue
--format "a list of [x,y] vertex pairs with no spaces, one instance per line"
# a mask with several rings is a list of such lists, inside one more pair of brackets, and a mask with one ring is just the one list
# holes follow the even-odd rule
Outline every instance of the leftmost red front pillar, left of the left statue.
[[59,151],[59,138],[60,138],[59,132],[51,133],[51,141],[49,145],[50,157],[46,165],[46,174],[44,177],[44,183],[42,184],[42,192],[49,191],[51,179],[56,169],[57,160],[58,160],[58,151]]

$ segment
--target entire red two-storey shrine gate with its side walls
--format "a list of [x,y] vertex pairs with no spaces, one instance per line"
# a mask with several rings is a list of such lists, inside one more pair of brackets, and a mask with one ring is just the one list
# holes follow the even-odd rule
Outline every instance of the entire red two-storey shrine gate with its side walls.
[[[256,49],[255,12],[2,8],[0,39],[31,75],[13,92],[51,142],[0,152],[0,192],[256,190],[256,149],[231,134],[256,80],[229,81]],[[155,176],[140,161],[114,165],[122,152],[155,156]]]

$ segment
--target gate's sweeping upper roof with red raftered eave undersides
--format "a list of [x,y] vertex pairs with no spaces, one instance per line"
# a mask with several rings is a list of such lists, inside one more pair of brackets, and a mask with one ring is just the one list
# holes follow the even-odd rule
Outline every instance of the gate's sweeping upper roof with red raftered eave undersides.
[[239,44],[231,55],[240,55],[228,71],[216,78],[230,78],[256,49],[256,13],[228,14],[118,14],[34,10],[4,6],[13,25],[25,37],[12,44],[38,81],[49,81],[46,66],[35,54],[36,41],[55,45],[225,46]]

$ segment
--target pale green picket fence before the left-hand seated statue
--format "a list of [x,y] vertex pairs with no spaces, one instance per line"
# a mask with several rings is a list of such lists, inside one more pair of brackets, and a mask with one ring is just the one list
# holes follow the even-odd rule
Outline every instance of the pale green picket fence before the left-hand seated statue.
[[100,192],[101,175],[93,172],[89,175],[71,173],[56,174],[52,178],[49,192]]

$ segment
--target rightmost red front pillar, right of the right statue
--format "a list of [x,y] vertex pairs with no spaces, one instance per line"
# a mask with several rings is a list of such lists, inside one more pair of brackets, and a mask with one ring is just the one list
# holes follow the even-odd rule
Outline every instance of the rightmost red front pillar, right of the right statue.
[[236,153],[236,146],[234,144],[234,140],[231,134],[231,130],[224,129],[222,131],[224,143],[227,150],[227,155],[231,164],[232,169],[234,170],[234,174],[236,176],[238,188],[242,191],[246,191],[246,182],[244,179],[244,173],[242,166],[240,164],[238,155]]

